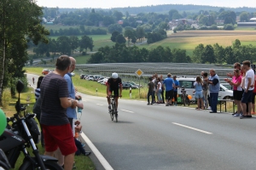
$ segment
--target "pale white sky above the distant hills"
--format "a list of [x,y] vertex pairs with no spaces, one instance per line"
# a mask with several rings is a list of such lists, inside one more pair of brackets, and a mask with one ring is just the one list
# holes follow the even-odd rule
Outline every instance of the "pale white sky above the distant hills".
[[[158,4],[177,4],[177,0],[36,0],[39,6],[49,8],[117,8],[140,7]],[[182,0],[179,4],[210,5],[217,7],[252,7],[256,8],[256,0]]]

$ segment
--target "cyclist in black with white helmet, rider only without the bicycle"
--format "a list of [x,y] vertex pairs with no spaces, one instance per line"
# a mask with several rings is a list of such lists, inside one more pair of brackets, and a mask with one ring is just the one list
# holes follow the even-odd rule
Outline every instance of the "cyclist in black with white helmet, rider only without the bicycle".
[[122,80],[119,78],[119,75],[116,72],[112,73],[112,77],[108,78],[107,82],[107,99],[108,99],[108,110],[111,110],[110,98],[109,96],[112,94],[115,96],[116,110],[119,105],[119,97],[122,97]]

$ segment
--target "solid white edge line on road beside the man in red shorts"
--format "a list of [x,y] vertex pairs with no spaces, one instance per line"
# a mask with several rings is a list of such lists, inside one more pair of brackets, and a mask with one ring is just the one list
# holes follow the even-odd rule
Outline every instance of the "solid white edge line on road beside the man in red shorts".
[[90,147],[90,150],[93,151],[93,153],[96,155],[98,160],[102,163],[102,166],[106,170],[113,170],[113,167],[111,167],[111,165],[108,163],[108,161],[105,159],[105,157],[102,156],[101,152],[96,148],[96,146],[94,144],[92,144],[90,139],[84,133],[81,133],[81,136],[84,139],[84,141],[86,142],[86,144],[88,144],[88,146]]

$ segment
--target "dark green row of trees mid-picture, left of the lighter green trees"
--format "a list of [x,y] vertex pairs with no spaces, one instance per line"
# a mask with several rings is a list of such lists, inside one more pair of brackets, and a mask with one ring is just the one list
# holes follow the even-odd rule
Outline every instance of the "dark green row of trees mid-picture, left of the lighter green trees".
[[96,54],[92,54],[89,63],[132,63],[132,62],[183,62],[189,63],[191,59],[186,55],[185,49],[161,46],[148,50],[137,46],[127,47],[116,43],[113,47],[103,47]]

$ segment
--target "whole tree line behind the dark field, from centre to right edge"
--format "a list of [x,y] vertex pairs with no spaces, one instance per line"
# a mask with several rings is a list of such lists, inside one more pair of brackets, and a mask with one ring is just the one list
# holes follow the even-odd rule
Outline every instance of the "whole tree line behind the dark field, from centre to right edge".
[[195,47],[192,56],[187,55],[185,49],[163,48],[154,49],[138,48],[137,46],[125,46],[124,43],[116,43],[113,47],[102,47],[96,54],[91,54],[88,60],[91,64],[99,63],[132,63],[132,62],[173,62],[173,63],[202,63],[202,64],[228,64],[243,60],[256,61],[256,47],[241,45],[236,39],[232,46],[222,47],[199,44]]

